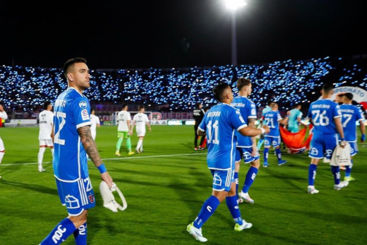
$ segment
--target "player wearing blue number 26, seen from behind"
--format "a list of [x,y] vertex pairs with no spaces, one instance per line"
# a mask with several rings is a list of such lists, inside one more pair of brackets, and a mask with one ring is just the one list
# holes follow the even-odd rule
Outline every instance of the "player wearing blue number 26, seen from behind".
[[[307,117],[313,123],[313,137],[310,144],[309,156],[311,163],[308,169],[308,187],[310,194],[319,193],[315,189],[316,169],[320,159],[331,159],[333,151],[338,144],[339,133],[341,137],[340,145],[345,147],[345,138],[341,121],[340,107],[330,98],[333,95],[333,86],[324,84],[321,90],[322,98],[312,102]],[[348,181],[340,181],[340,171],[338,166],[331,166],[334,175],[334,189],[340,190],[348,185]]]

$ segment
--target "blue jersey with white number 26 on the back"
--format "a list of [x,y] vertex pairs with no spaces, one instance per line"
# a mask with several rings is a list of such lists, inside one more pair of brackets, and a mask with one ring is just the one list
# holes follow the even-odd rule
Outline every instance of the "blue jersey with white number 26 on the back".
[[334,119],[341,118],[340,107],[330,99],[320,99],[312,102],[307,117],[312,118],[314,134],[336,134],[337,127]]

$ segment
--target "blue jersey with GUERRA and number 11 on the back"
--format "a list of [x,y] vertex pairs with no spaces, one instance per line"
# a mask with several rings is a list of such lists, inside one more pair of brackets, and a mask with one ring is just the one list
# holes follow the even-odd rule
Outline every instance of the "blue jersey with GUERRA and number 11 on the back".
[[235,164],[235,131],[246,127],[240,112],[228,104],[219,103],[204,116],[199,130],[207,132],[210,169],[227,170]]

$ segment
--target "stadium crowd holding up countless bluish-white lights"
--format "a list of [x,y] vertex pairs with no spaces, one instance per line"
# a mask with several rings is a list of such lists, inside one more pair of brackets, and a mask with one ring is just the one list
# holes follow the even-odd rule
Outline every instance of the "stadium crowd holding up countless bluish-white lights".
[[[366,89],[366,68],[367,57],[359,56],[206,68],[97,69],[91,71],[91,88],[85,94],[92,104],[128,102],[150,110],[167,105],[170,111],[191,111],[197,101],[215,103],[210,94],[218,82],[229,83],[236,92],[236,80],[243,76],[252,81],[251,99],[257,107],[272,99],[280,103],[280,110],[288,110],[297,102],[319,97],[324,82]],[[54,101],[64,89],[61,69],[0,66],[0,100],[10,114],[31,117],[43,101]]]

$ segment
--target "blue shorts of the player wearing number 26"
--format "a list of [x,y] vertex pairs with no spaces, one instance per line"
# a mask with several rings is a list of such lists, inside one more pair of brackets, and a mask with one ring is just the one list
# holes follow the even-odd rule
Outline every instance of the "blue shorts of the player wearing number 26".
[[313,134],[308,155],[311,158],[331,159],[337,144],[337,134]]

